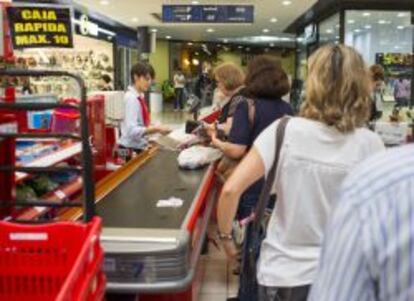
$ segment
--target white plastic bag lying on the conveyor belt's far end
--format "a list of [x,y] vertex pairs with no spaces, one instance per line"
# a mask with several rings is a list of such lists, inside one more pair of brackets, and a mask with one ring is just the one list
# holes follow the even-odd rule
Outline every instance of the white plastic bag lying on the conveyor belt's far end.
[[178,165],[185,169],[197,169],[220,159],[221,156],[221,151],[216,148],[196,145],[180,153]]

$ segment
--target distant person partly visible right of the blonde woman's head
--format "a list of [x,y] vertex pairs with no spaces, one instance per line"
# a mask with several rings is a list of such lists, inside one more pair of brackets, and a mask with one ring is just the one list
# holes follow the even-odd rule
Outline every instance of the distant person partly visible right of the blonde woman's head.
[[375,121],[382,117],[384,103],[384,68],[381,65],[372,65],[369,71],[372,87],[370,120]]

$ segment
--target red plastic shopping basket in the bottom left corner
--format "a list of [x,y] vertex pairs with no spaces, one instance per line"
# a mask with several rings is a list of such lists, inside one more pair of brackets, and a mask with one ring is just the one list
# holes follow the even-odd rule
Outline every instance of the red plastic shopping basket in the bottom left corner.
[[102,300],[101,219],[87,224],[0,222],[0,300]]

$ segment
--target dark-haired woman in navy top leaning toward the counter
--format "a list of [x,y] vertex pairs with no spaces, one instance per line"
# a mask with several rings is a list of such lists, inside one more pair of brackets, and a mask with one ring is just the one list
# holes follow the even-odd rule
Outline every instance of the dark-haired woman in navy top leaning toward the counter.
[[[219,75],[216,76],[219,86],[222,87]],[[289,92],[289,81],[286,72],[280,62],[268,56],[258,56],[254,58],[247,69],[245,89],[243,94],[245,99],[241,101],[235,109],[230,133],[227,141],[220,140],[213,135],[212,143],[223,153],[232,159],[241,159],[251,148],[253,141],[260,133],[275,120],[285,116],[293,115],[290,104],[282,100],[282,96]],[[230,214],[228,222],[231,224],[234,218],[242,221],[253,213],[264,180],[258,177],[246,187],[246,191],[240,194],[234,212]],[[236,214],[237,211],[237,214]],[[219,213],[223,213],[219,211]],[[245,230],[245,235],[249,235],[249,226]],[[225,236],[220,236],[225,239]],[[242,250],[242,265],[245,262],[243,255],[246,254],[245,248]],[[255,275],[247,275],[241,270],[240,274],[240,300],[254,300],[245,292],[250,286],[251,280]]]

